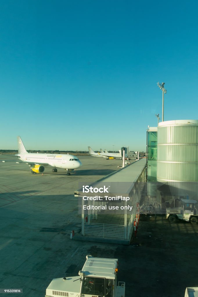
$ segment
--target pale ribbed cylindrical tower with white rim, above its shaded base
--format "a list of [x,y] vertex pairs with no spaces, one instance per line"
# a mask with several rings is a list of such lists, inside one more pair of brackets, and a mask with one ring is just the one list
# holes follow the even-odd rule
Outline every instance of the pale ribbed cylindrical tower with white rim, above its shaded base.
[[198,120],[159,123],[157,181],[198,182]]

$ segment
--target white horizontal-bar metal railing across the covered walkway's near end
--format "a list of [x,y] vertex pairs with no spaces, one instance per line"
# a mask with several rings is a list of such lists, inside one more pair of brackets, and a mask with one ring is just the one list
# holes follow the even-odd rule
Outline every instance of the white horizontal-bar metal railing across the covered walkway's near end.
[[103,238],[124,238],[124,225],[84,223],[84,235]]

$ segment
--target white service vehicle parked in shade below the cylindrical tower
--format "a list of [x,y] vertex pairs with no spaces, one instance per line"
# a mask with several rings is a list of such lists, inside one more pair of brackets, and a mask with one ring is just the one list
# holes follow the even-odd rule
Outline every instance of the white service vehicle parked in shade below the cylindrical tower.
[[178,219],[194,224],[198,223],[198,202],[191,199],[180,199],[181,206],[166,208],[166,219],[175,223]]

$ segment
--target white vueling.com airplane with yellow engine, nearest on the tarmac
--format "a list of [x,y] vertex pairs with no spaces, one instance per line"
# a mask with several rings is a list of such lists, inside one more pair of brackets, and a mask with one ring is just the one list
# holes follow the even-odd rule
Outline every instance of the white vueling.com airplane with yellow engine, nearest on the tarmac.
[[67,175],[70,175],[70,170],[82,166],[77,157],[69,154],[28,153],[20,136],[18,136],[18,154],[15,154],[15,156],[28,164],[32,173],[43,173],[45,170],[44,166],[50,165],[54,167],[52,172],[57,172],[57,168],[62,168],[67,170]]

